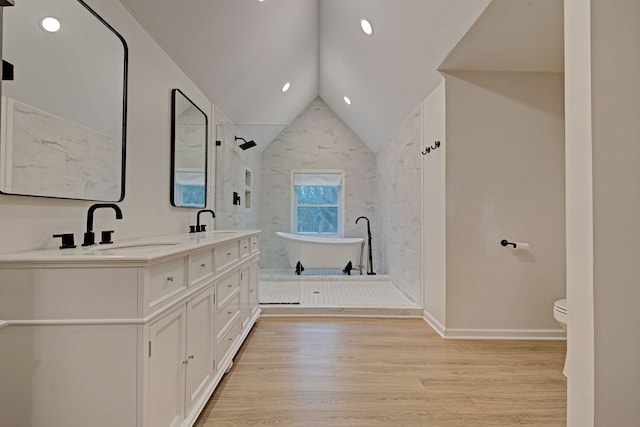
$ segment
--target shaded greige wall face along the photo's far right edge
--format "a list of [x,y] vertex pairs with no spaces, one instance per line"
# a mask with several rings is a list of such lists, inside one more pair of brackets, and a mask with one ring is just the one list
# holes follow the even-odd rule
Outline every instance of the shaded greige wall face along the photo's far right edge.
[[640,422],[638,21],[637,0],[591,0],[596,426]]

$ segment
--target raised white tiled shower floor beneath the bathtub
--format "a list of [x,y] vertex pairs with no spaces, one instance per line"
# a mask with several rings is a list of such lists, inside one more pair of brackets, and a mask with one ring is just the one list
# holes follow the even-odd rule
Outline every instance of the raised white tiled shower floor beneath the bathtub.
[[412,316],[420,307],[389,276],[343,275],[341,271],[263,270],[259,301],[264,314]]

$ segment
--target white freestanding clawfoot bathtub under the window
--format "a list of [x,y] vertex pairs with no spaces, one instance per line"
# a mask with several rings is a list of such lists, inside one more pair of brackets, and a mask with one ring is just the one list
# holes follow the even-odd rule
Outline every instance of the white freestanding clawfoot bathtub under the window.
[[359,237],[317,237],[276,231],[287,251],[289,264],[305,269],[344,269],[351,261],[354,269],[362,264],[364,239]]

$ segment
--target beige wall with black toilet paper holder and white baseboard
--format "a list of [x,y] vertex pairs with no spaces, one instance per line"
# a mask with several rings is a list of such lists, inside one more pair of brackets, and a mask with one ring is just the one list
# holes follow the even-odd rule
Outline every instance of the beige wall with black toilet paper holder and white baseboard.
[[446,335],[564,336],[552,310],[565,296],[563,76],[445,82]]

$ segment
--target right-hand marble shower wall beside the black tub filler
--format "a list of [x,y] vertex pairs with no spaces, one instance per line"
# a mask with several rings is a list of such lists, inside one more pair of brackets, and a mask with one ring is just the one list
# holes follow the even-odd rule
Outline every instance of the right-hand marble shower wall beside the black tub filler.
[[374,266],[422,301],[422,109],[418,105],[376,156]]

